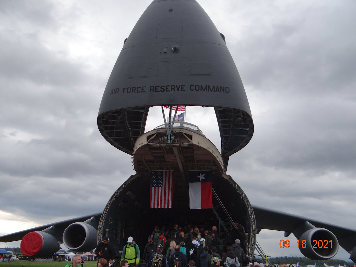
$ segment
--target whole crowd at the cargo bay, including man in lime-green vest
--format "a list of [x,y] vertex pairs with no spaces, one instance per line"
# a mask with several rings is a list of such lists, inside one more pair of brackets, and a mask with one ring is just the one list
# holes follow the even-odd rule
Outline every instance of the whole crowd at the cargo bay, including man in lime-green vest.
[[[140,248],[130,236],[122,248],[121,267],[135,267],[140,260],[146,267],[242,267],[248,265],[246,257],[246,233],[244,227],[235,223],[225,233],[219,233],[216,226],[211,229],[180,227],[174,224],[172,230],[156,225],[147,244]],[[209,231],[210,230],[210,231]],[[221,234],[221,236],[220,236]],[[98,266],[109,267],[117,257],[108,236],[95,249]],[[116,265],[115,265],[116,266]],[[260,266],[256,266],[260,267]]]

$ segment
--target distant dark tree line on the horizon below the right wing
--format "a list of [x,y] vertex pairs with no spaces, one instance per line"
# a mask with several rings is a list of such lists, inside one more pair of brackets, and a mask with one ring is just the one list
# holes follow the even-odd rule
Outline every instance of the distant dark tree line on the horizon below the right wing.
[[317,267],[323,267],[324,262],[327,265],[337,265],[339,264],[341,266],[354,266],[355,264],[352,261],[344,261],[344,260],[337,260],[337,259],[330,259],[330,260],[325,260],[325,261],[315,261],[315,260],[310,260],[307,257],[273,257],[273,258],[268,258],[268,263],[271,264],[272,266],[274,264],[282,265],[282,264],[297,264],[299,262],[299,266],[307,266],[307,265],[314,265],[316,262]]

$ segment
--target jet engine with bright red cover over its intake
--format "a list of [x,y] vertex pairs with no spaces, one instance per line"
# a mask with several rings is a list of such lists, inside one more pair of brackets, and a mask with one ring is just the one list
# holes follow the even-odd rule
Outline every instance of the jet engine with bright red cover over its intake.
[[47,257],[59,249],[56,237],[46,232],[29,232],[21,240],[21,252],[29,257]]

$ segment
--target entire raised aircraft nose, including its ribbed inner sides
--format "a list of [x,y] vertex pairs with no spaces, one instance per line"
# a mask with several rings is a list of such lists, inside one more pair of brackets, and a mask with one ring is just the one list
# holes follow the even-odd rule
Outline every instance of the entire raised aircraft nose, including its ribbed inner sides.
[[251,140],[244,85],[224,36],[194,0],[153,1],[127,38],[101,100],[98,128],[132,155],[148,107],[211,106],[227,157]]

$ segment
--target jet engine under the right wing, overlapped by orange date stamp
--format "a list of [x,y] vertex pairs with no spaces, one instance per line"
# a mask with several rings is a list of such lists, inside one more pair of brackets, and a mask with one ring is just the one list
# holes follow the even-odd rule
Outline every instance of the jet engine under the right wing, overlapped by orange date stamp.
[[327,260],[339,250],[336,236],[327,229],[313,228],[299,238],[299,250],[312,260]]

